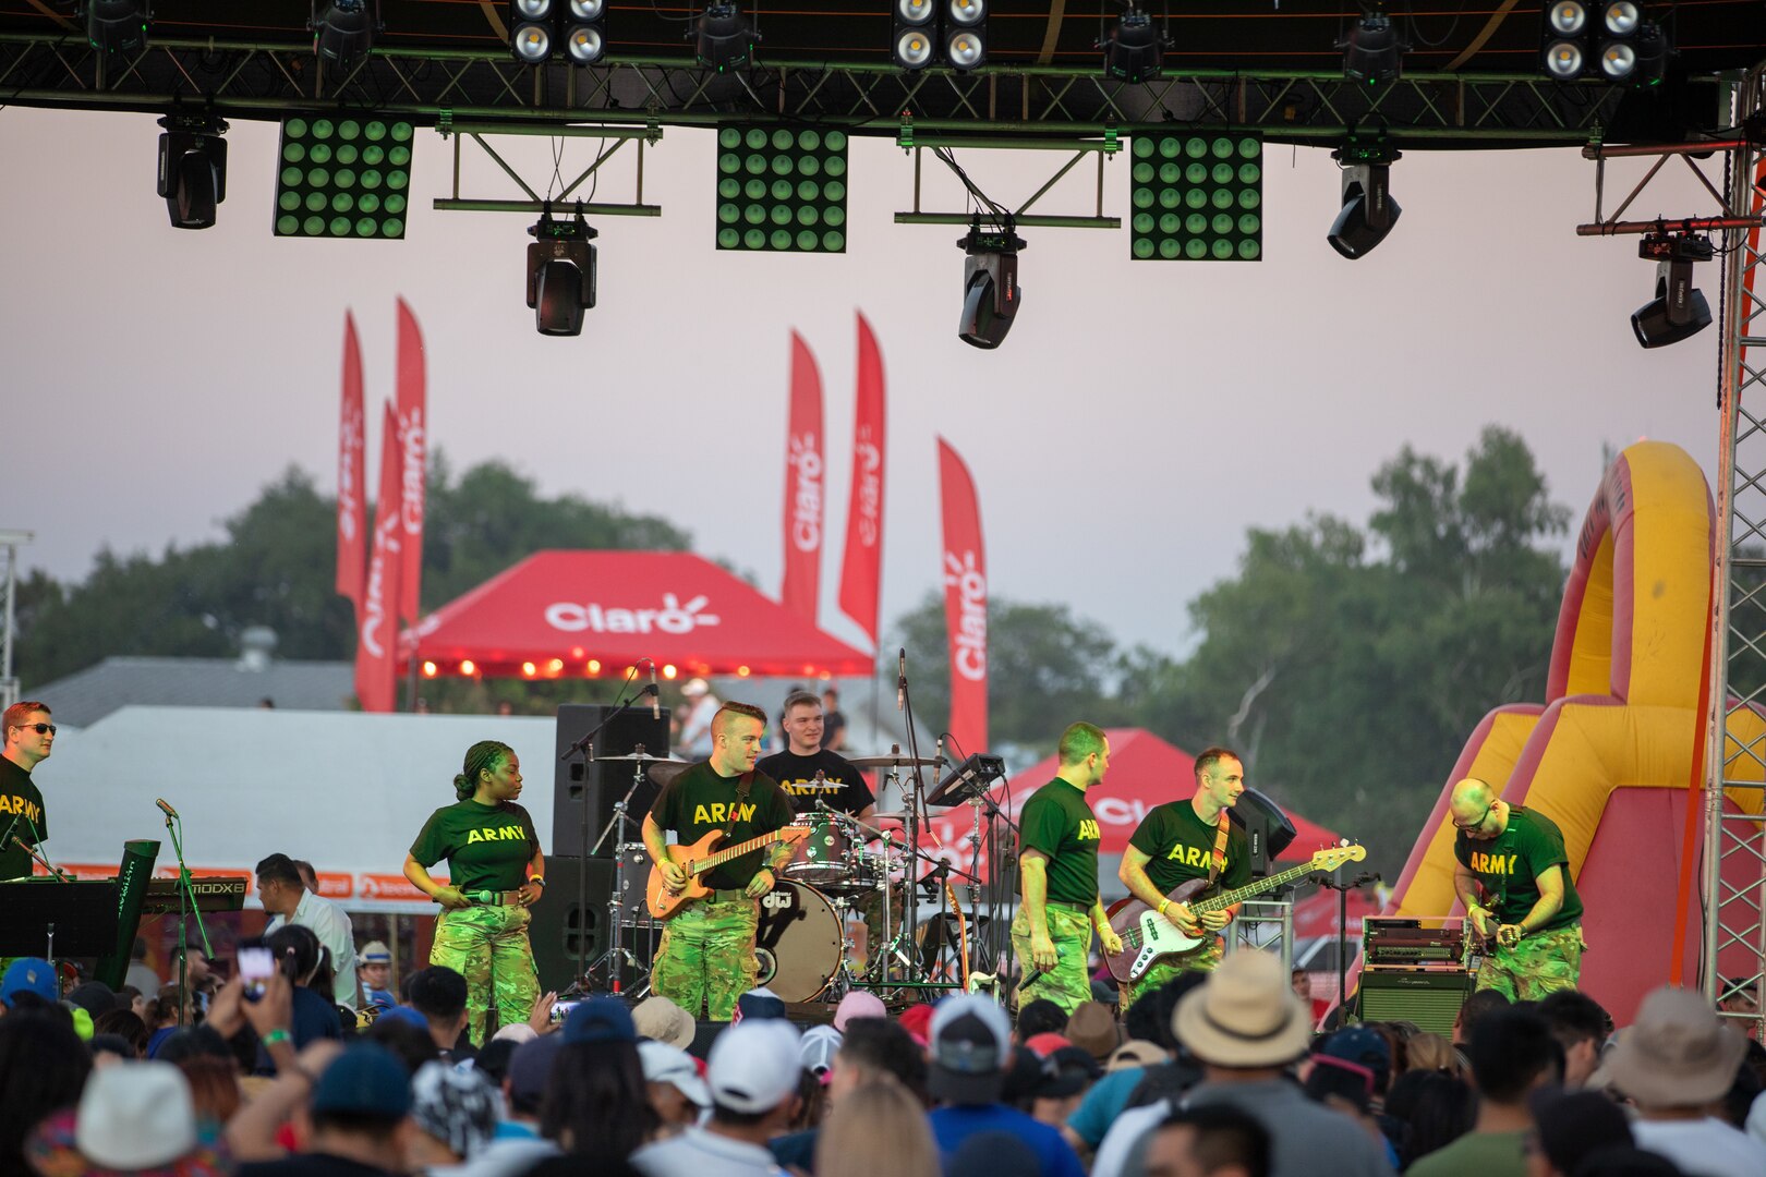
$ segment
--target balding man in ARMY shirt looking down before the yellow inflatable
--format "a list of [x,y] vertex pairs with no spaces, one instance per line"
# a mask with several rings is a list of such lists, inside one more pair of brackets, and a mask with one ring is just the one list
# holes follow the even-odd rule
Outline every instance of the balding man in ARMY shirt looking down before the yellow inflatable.
[[1480,937],[1496,946],[1478,967],[1478,988],[1538,1001],[1575,988],[1582,976],[1582,898],[1558,822],[1496,796],[1476,776],[1453,785],[1453,893]]

